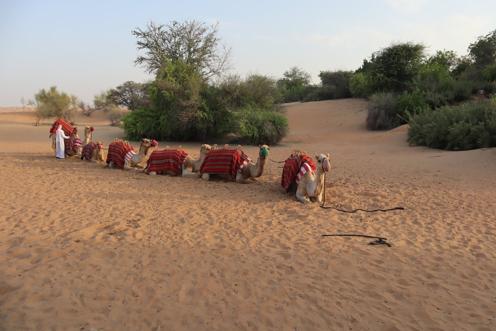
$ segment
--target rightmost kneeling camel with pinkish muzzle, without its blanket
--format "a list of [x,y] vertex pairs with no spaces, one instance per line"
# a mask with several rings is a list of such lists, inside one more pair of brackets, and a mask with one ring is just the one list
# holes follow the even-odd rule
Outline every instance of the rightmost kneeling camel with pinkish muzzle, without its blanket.
[[317,161],[315,169],[316,174],[313,174],[312,171],[308,171],[300,178],[299,183],[295,183],[297,186],[296,198],[303,203],[322,201],[325,179],[324,172],[331,170],[329,153],[327,153],[327,155],[315,154],[315,161]]

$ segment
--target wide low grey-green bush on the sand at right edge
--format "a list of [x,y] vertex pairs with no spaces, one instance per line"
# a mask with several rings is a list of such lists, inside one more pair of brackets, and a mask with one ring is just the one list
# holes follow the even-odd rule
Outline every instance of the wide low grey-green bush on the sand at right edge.
[[408,124],[410,144],[448,150],[496,147],[496,99],[424,110]]

